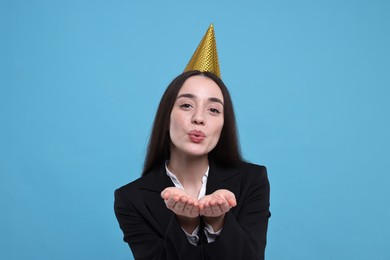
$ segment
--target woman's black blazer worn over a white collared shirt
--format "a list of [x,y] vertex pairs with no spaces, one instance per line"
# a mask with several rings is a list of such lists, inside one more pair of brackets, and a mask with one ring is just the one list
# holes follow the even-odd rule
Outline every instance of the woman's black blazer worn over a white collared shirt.
[[174,184],[162,163],[115,191],[115,214],[135,259],[264,259],[271,215],[264,166],[241,163],[222,168],[210,163],[206,194],[228,189],[235,194],[237,206],[226,214],[217,240],[198,246],[188,242],[175,214],[160,196],[170,186]]

